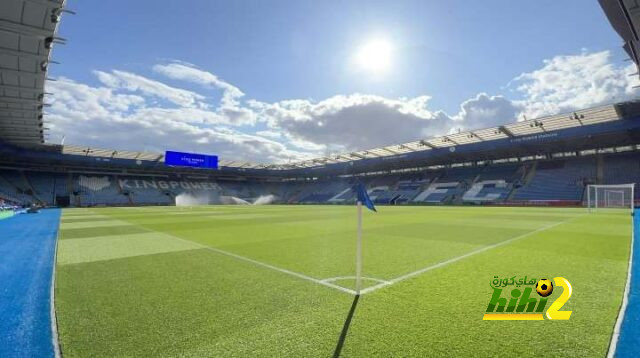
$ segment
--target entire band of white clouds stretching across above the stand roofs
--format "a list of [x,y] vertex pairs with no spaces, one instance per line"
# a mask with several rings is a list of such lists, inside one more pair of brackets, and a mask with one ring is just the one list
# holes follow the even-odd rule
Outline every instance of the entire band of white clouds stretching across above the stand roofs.
[[[370,149],[592,107],[631,98],[632,65],[616,66],[609,52],[556,56],[508,86],[520,98],[480,93],[457,113],[430,108],[427,95],[385,98],[337,95],[323,100],[274,103],[244,100],[236,86],[192,65],[154,66],[171,79],[222,92],[209,95],[134,73],[94,71],[103,86],[70,79],[49,82],[55,93],[47,115],[54,137],[67,142],[128,150],[165,149],[217,153],[224,159],[283,162],[329,152]],[[163,99],[164,101],[158,101]],[[162,102],[158,104],[158,102]]]

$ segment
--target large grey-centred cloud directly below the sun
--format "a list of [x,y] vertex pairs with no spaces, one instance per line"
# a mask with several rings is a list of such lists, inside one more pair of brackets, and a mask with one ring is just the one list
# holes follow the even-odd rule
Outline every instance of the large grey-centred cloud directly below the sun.
[[340,151],[394,144],[428,132],[445,133],[446,123],[427,110],[427,100],[354,94],[320,102],[252,101],[250,106],[272,130]]

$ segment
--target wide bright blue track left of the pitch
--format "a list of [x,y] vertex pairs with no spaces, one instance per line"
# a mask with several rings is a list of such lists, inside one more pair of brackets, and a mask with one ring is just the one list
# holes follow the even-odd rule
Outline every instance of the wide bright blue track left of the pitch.
[[59,209],[0,220],[0,357],[54,357],[51,280]]

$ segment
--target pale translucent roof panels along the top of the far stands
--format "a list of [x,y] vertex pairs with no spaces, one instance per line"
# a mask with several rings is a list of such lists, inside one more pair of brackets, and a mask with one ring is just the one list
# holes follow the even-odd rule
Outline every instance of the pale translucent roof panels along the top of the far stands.
[[[221,167],[245,168],[245,169],[299,169],[312,168],[327,164],[353,162],[361,159],[391,157],[410,152],[429,151],[439,148],[455,147],[461,144],[481,143],[496,139],[511,137],[521,137],[532,134],[541,134],[559,129],[575,128],[620,120],[621,116],[615,105],[606,105],[590,108],[571,113],[564,113],[554,116],[537,118],[506,124],[499,127],[472,130],[440,137],[424,138],[413,142],[391,145],[387,147],[373,148],[350,153],[342,153],[319,157],[309,160],[298,161],[287,164],[256,164],[244,161],[229,161],[220,159]],[[65,145],[62,147],[63,154],[84,155],[114,159],[135,159],[144,161],[164,162],[164,154],[145,153],[133,151],[118,151],[96,149],[90,147],[80,147]]]

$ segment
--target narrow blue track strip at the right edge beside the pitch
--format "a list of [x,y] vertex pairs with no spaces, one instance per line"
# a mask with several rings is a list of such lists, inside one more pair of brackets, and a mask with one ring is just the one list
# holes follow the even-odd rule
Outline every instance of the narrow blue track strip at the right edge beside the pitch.
[[620,328],[616,357],[640,357],[640,209],[633,216],[633,262],[627,310]]

